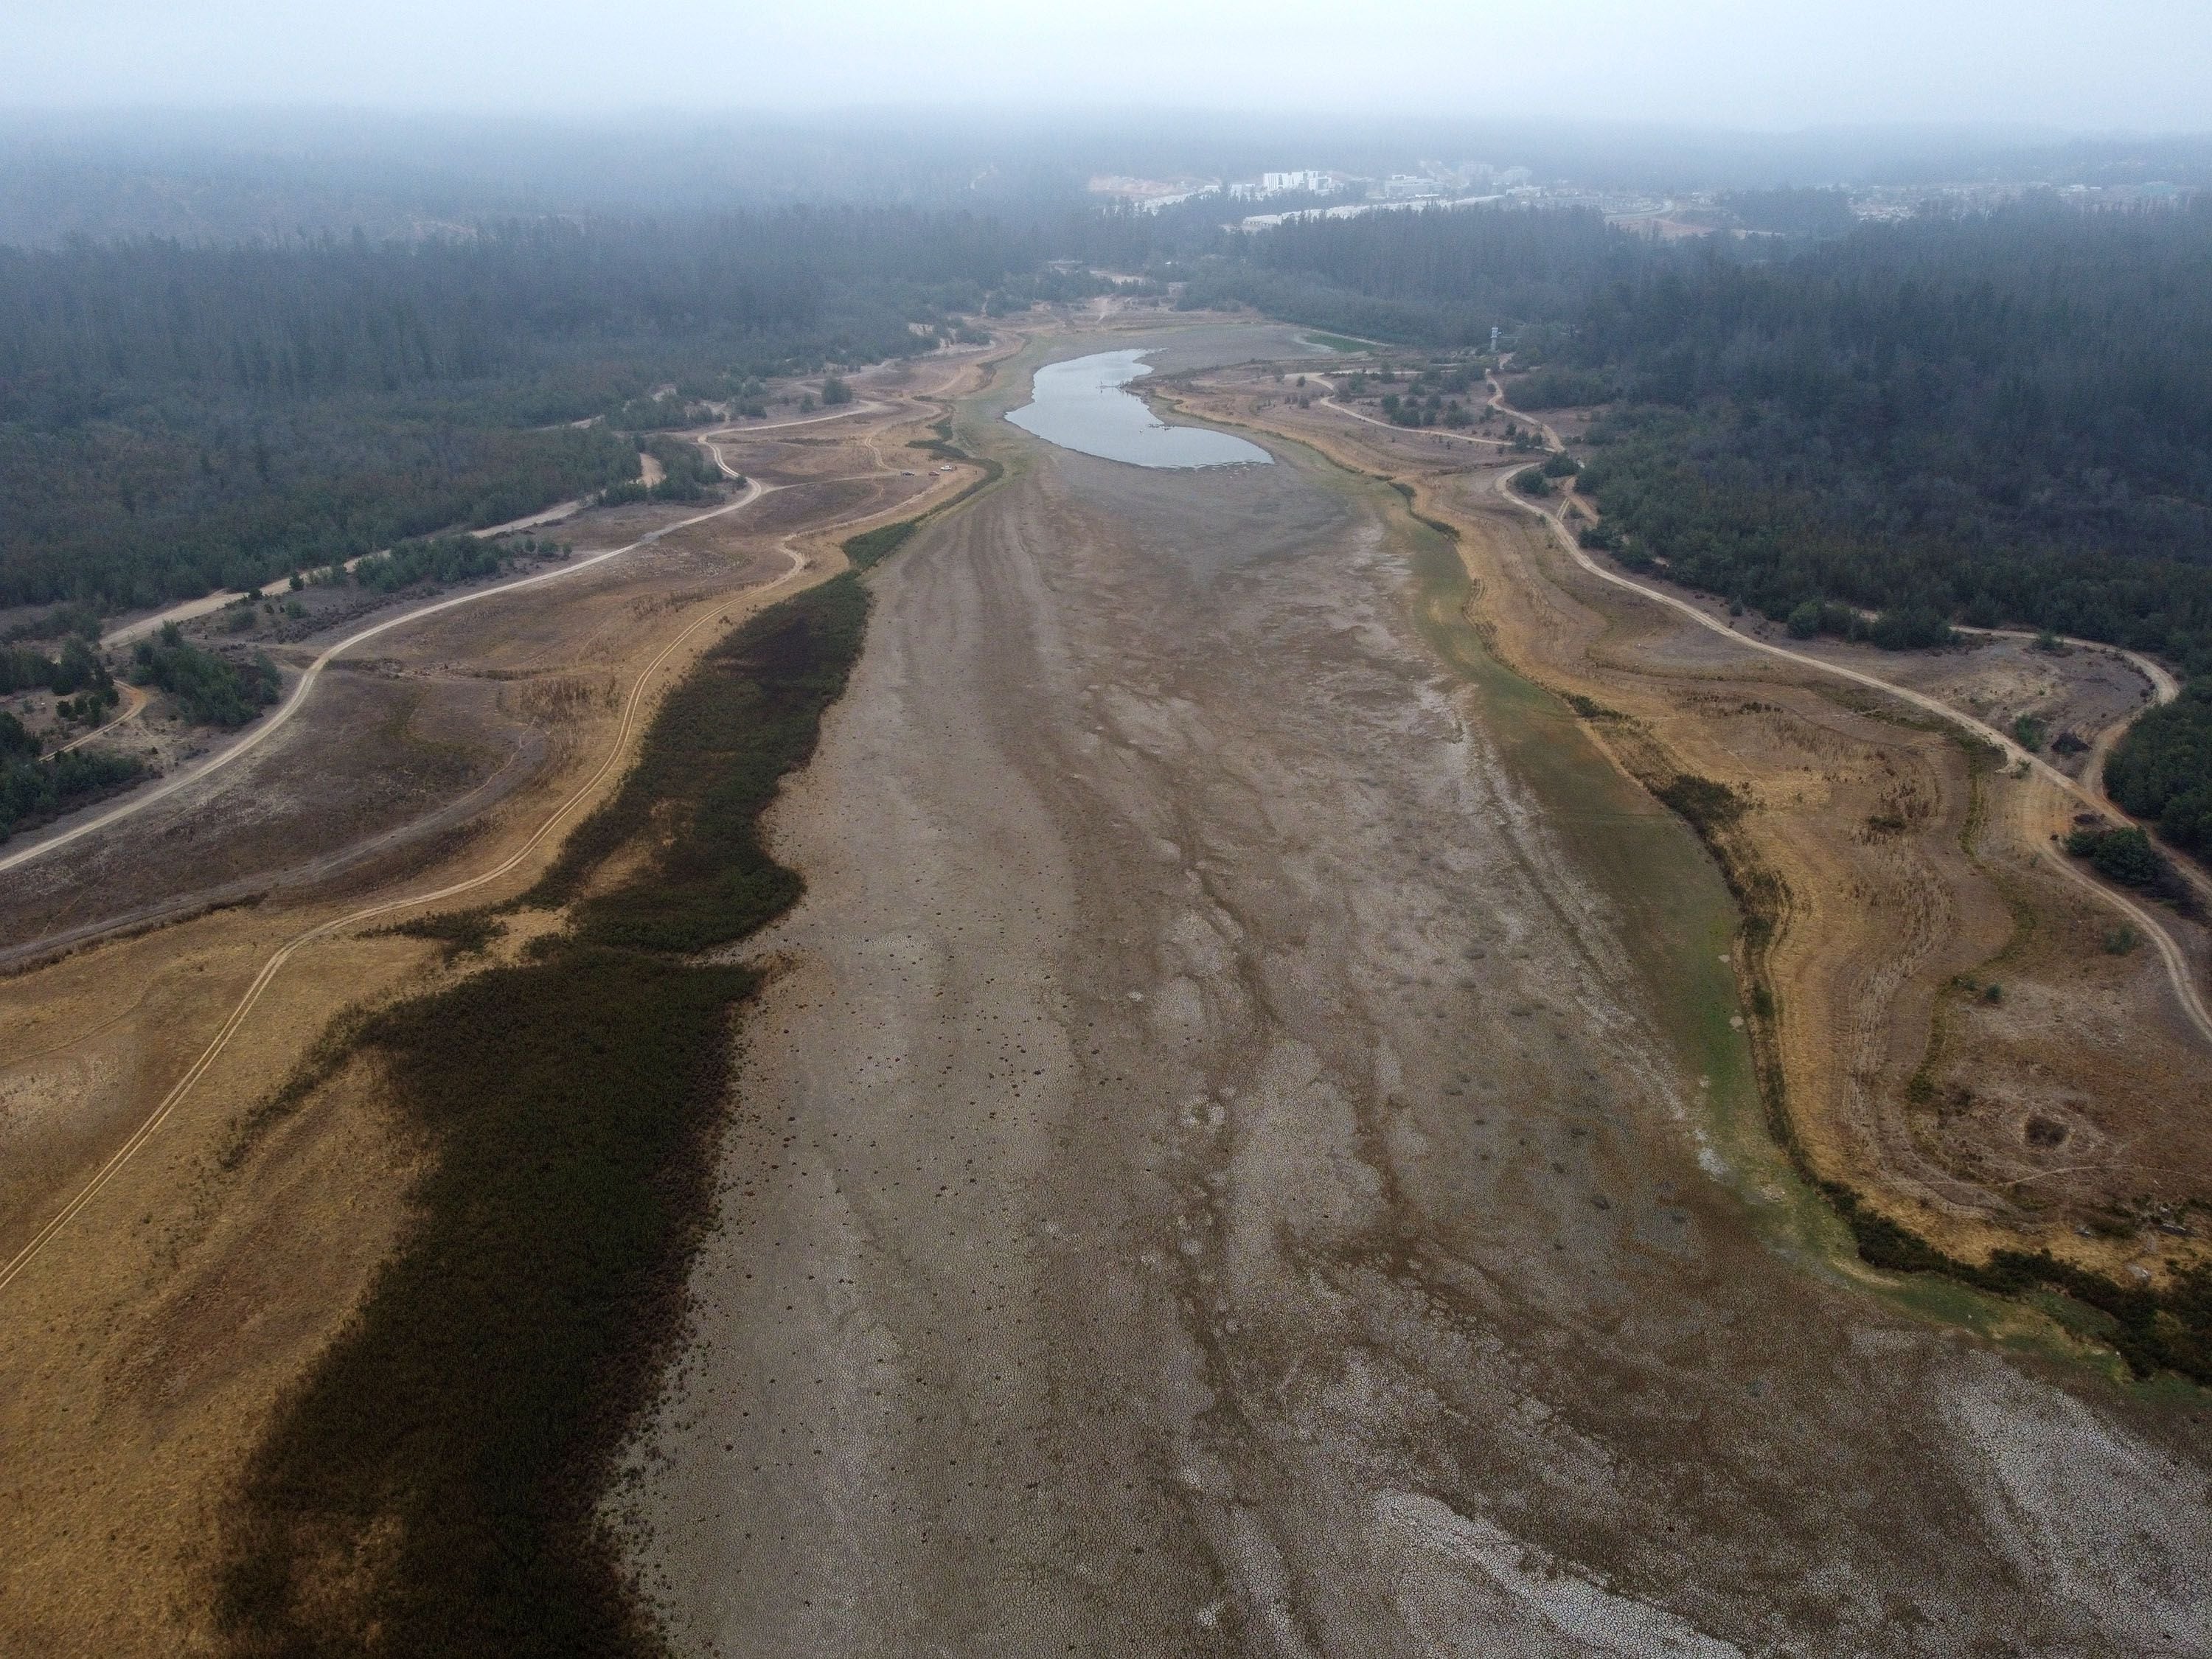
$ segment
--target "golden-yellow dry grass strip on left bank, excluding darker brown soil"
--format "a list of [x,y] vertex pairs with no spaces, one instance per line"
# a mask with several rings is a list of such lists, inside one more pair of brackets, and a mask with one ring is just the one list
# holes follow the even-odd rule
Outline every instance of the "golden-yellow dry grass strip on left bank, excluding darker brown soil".
[[[407,630],[392,672],[436,664],[434,703],[489,684],[493,703],[540,730],[538,772],[458,838],[354,869],[259,907],[219,909],[91,945],[18,973],[0,995],[0,1259],[124,1144],[208,1046],[261,964],[288,938],[387,896],[502,865],[573,801],[588,812],[622,774],[619,712],[670,641],[655,686],[761,604],[761,580],[805,573],[783,597],[843,568],[836,540],[942,500],[973,476],[900,480],[891,465],[975,361],[885,376],[883,411],[805,431],[737,434],[730,465],[781,489],[750,509],[666,538],[608,580],[551,584]],[[845,482],[825,482],[845,480]],[[650,509],[646,509],[650,511]],[[606,540],[635,535],[619,509]],[[664,515],[672,518],[672,515]],[[757,520],[765,518],[761,524]],[[577,526],[591,535],[593,524]],[[451,692],[447,688],[453,688]],[[648,701],[650,708],[650,701]],[[624,734],[635,745],[644,721]],[[606,765],[615,759],[615,765]],[[310,781],[312,787],[312,781]],[[471,902],[522,891],[560,845],[546,836]],[[551,916],[520,916],[511,956]],[[409,938],[336,933],[294,958],[161,1130],[0,1292],[0,1650],[177,1655],[212,1648],[199,1577],[243,1458],[274,1400],[361,1303],[407,1225],[414,1150],[394,1139],[376,1077],[349,1066],[265,1133],[239,1117],[265,1099],[349,1006],[389,1002],[449,971]]]

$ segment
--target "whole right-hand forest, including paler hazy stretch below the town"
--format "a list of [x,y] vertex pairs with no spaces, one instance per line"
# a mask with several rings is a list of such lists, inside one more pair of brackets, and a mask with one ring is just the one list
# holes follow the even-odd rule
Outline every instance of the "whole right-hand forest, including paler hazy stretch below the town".
[[[1843,230],[1818,192],[1732,206]],[[2013,624],[2212,675],[2212,204],[1679,246],[1586,212],[1371,212],[1190,270],[1197,299],[1376,338],[1504,330],[1535,369],[1515,400],[1610,405],[1593,540],[1776,622],[1885,646]],[[2115,757],[2161,779],[2130,810],[2188,845],[2212,787],[2197,719]]]

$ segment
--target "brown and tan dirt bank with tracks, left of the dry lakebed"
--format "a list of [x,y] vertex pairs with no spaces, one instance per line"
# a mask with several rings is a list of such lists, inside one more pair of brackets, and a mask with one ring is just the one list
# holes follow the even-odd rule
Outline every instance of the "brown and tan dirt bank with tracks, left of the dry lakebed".
[[[717,436],[765,493],[571,582],[385,635],[374,661],[332,664],[250,759],[11,876],[0,942],[33,953],[148,909],[259,902],[82,945],[0,998],[0,1648],[208,1650],[230,1484],[403,1234],[416,1175],[369,1068],[279,1117],[252,1108],[343,1009],[469,971],[378,933],[409,909],[372,911],[487,874],[469,902],[524,889],[701,648],[843,568],[843,535],[973,476],[927,473],[905,449],[973,376],[973,361],[876,372],[849,418]],[[626,507],[564,535],[582,560],[697,511]],[[515,916],[493,953],[555,920]]]

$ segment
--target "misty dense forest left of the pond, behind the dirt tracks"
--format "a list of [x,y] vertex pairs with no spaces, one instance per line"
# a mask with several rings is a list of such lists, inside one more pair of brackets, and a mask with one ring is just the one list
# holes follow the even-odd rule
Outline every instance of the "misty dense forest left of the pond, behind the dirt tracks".
[[259,586],[635,476],[568,422],[925,349],[1029,272],[960,212],[0,248],[0,604]]

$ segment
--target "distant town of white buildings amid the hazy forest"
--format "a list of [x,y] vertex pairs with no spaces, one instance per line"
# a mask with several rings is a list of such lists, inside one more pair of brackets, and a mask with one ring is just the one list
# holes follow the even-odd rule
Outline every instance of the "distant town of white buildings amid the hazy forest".
[[[1418,173],[1383,177],[1336,168],[1285,168],[1261,173],[1254,179],[1099,175],[1091,179],[1088,188],[1093,197],[1117,199],[1139,212],[1164,212],[1183,204],[1219,199],[1223,223],[1239,230],[1265,230],[1285,219],[1303,217],[1352,219],[1363,212],[1400,208],[1473,208],[1506,201],[1593,208],[1624,228],[1655,237],[1774,234],[1776,230],[1776,226],[1745,221],[1736,206],[1741,192],[1641,195],[1601,190],[1571,179],[1537,179],[1526,166],[1493,166],[1489,161],[1422,164]],[[2075,206],[2179,206],[2192,199],[2199,186],[2166,179],[2104,186],[1980,179],[1971,184],[1823,186],[1820,192],[1840,197],[1838,208],[1847,210],[1851,219],[1911,219],[1929,210],[1982,210],[2037,195]],[[1237,212],[1237,208],[1245,210]],[[1836,217],[1840,219],[1843,212]]]

